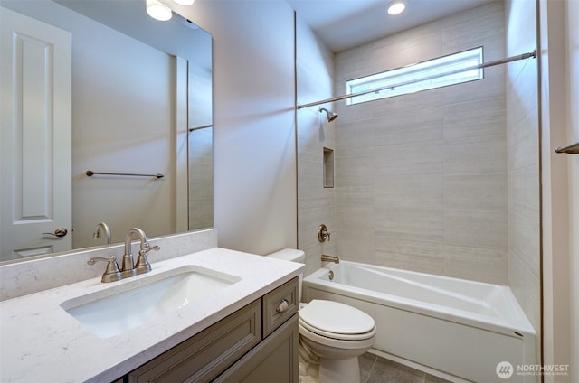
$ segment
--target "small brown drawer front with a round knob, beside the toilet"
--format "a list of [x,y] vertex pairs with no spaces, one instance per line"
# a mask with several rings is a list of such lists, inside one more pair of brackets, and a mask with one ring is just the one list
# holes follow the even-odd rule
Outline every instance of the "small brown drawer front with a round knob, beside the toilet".
[[298,313],[298,277],[263,295],[263,337]]

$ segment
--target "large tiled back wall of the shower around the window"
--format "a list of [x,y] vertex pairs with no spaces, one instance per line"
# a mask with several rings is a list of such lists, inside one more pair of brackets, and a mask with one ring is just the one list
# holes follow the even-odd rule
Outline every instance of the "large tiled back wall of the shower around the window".
[[[347,79],[483,46],[505,57],[493,2],[338,53]],[[505,67],[467,84],[346,106],[337,102],[336,228],[341,257],[508,284]]]

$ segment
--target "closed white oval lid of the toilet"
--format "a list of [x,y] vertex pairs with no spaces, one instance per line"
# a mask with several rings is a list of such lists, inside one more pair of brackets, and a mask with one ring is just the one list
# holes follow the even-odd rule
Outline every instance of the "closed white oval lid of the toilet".
[[299,319],[320,332],[354,335],[375,330],[374,319],[370,315],[334,301],[314,299],[299,310]]

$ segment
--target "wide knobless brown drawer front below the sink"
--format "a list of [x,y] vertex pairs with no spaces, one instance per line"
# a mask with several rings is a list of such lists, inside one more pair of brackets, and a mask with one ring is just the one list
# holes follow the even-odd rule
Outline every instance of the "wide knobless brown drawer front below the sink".
[[128,381],[210,381],[260,341],[258,299],[135,369],[128,375]]

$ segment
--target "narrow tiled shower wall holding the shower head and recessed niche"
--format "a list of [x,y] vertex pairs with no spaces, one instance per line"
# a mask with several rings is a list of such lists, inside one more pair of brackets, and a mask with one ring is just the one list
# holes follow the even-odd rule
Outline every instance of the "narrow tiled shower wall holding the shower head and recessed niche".
[[[297,70],[298,104],[332,98],[334,86],[333,54],[320,42],[315,33],[298,14]],[[304,107],[298,116],[298,246],[306,254],[308,276],[321,266],[321,255],[336,254],[336,215],[334,213],[335,188],[323,185],[324,147],[336,147],[336,122],[327,122],[319,107],[332,109],[331,105]],[[329,241],[318,241],[318,227],[327,225]]]

